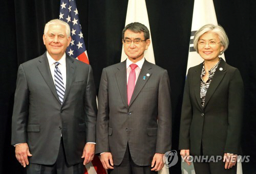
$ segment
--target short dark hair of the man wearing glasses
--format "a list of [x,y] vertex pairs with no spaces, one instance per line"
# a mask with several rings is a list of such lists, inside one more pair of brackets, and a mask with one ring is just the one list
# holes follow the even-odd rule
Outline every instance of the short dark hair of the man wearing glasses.
[[133,23],[129,23],[127,24],[127,26],[125,26],[125,28],[122,31],[122,39],[124,39],[124,32],[126,30],[131,30],[134,33],[144,33],[144,38],[150,39],[150,31],[148,31],[147,27],[144,26],[142,23],[140,22],[133,22]]

